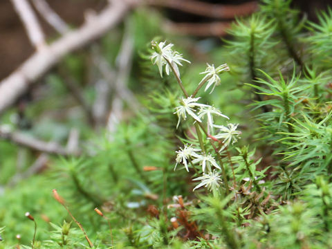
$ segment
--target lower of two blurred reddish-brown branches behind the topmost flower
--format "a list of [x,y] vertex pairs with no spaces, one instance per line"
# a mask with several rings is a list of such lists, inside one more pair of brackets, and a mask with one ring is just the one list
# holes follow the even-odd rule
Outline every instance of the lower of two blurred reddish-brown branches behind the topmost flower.
[[182,23],[175,24],[171,21],[165,23],[165,29],[172,33],[181,35],[195,35],[201,37],[221,37],[227,35],[227,29],[230,28],[230,22],[216,21],[206,24]]

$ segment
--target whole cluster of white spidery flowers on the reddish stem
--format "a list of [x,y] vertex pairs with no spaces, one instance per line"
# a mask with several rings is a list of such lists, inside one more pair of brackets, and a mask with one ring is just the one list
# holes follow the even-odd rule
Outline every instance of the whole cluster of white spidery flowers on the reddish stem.
[[[152,62],[158,66],[161,77],[163,77],[163,66],[165,66],[165,72],[167,75],[169,75],[170,71],[173,71],[178,84],[181,86],[181,89],[183,89],[183,93],[185,94],[185,98],[183,97],[180,101],[180,105],[175,108],[174,114],[178,116],[176,129],[178,128],[181,120],[187,120],[187,116],[191,116],[194,119],[194,123],[202,123],[206,117],[207,129],[204,131],[205,135],[210,138],[215,138],[213,142],[219,141],[219,139],[222,140],[222,147],[219,150],[220,153],[220,151],[225,149],[225,147],[237,142],[237,138],[239,138],[239,135],[241,134],[240,131],[237,131],[238,124],[228,124],[227,127],[214,124],[214,116],[219,116],[228,120],[229,118],[221,113],[219,109],[208,104],[199,103],[198,101],[200,98],[195,98],[194,96],[204,84],[206,84],[205,91],[210,89],[211,86],[213,91],[216,86],[221,84],[220,74],[225,71],[229,71],[230,68],[228,68],[227,64],[223,64],[216,68],[213,64],[208,64],[206,70],[201,73],[205,74],[205,76],[199,83],[199,86],[197,86],[196,91],[193,95],[188,95],[180,80],[178,66],[182,66],[181,62],[190,62],[187,59],[183,59],[180,53],[172,50],[172,47],[173,44],[166,44],[166,42],[160,42],[158,44],[156,42],[152,42],[154,53],[150,56],[150,58]],[[212,91],[210,93],[212,93]],[[202,124],[199,125],[202,127]],[[214,129],[219,129],[219,133],[213,135]],[[202,128],[202,130],[205,129]],[[216,162],[216,159],[209,153],[209,151],[207,151],[206,148],[204,148],[202,144],[203,141],[200,140],[201,149],[195,148],[194,145],[186,144],[183,148],[176,151],[176,165],[174,170],[179,163],[182,163],[185,166],[187,172],[189,172],[189,164],[193,166],[198,164],[202,167],[203,176],[194,178],[194,181],[201,181],[201,183],[199,183],[194,190],[203,186],[207,187],[210,191],[217,190],[219,184],[221,183],[221,177],[216,172],[216,169],[221,170],[221,165]],[[219,163],[221,163],[220,160]],[[213,171],[212,167],[214,167]],[[223,172],[223,174],[225,173]]]

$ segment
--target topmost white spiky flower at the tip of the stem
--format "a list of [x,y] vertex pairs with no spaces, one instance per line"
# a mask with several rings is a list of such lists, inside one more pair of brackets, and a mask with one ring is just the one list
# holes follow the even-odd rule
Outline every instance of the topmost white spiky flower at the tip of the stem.
[[181,61],[190,63],[190,61],[188,61],[187,59],[183,59],[181,53],[172,50],[172,46],[174,45],[166,45],[166,42],[159,42],[159,44],[152,42],[152,48],[154,48],[155,51],[150,56],[150,59],[154,64],[158,66],[161,77],[163,77],[163,66],[166,65],[165,71],[167,75],[169,75],[169,72],[172,71],[171,67],[167,63],[167,60],[173,66],[178,76],[180,76],[180,72],[178,71],[178,65],[182,66]]

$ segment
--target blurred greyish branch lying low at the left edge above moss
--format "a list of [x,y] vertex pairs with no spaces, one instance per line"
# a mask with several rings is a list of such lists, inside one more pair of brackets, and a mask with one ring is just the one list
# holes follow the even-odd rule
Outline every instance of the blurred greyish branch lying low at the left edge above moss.
[[[45,142],[37,138],[27,136],[24,133],[18,131],[9,131],[3,127],[0,127],[0,138],[9,140],[16,145],[28,147],[36,151],[42,151],[48,154],[57,154],[61,156],[73,155],[67,149],[57,144],[57,142]],[[79,151],[75,151],[75,154],[80,154]]]

